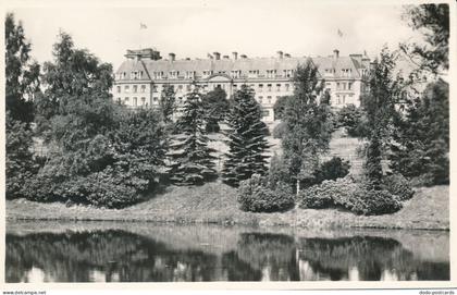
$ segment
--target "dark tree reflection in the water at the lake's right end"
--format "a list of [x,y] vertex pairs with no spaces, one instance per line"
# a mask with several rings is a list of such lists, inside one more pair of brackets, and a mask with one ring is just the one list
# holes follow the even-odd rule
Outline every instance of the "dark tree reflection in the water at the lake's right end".
[[331,280],[345,280],[349,270],[355,269],[357,279],[362,281],[378,281],[387,274],[396,280],[449,279],[448,263],[418,261],[412,253],[393,238],[302,238],[299,245],[299,259],[309,262],[321,278],[328,275]]

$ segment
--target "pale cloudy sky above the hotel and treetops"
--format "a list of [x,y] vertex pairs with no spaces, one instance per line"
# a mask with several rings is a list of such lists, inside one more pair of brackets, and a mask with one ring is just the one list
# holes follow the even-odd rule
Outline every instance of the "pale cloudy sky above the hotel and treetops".
[[[395,48],[413,36],[400,20],[402,7],[392,2],[61,2],[24,1],[21,7],[8,8],[23,22],[39,62],[51,60],[60,28],[73,36],[77,47],[113,63],[114,69],[126,49],[140,47],[156,47],[162,57],[174,52],[177,59],[205,58],[213,51],[248,57],[269,57],[277,50],[293,56],[329,56],[335,48],[342,56],[366,50],[372,57],[384,44]],[[140,23],[147,28],[140,29]]]

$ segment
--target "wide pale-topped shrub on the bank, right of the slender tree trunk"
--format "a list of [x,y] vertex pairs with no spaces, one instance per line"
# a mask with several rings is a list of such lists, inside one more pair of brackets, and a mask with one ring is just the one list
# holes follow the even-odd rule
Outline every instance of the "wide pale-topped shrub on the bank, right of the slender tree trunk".
[[299,195],[300,208],[329,208],[336,206],[357,214],[384,214],[402,209],[398,198],[387,190],[375,190],[350,177],[324,181]]

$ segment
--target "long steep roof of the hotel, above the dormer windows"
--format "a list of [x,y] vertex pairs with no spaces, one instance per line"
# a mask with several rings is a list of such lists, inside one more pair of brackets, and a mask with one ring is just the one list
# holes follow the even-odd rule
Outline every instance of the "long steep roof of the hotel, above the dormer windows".
[[[242,76],[248,75],[249,71],[258,70],[260,75],[267,75],[267,70],[276,70],[276,74],[282,74],[284,70],[294,70],[298,64],[306,63],[310,58],[307,57],[284,57],[279,58],[238,58],[233,59],[195,59],[195,60],[150,60],[143,59],[139,61],[127,59],[125,60],[116,73],[132,71],[145,71],[149,75],[149,79],[153,76],[153,72],[163,72],[165,75],[171,71],[178,71],[180,76],[183,76],[187,71],[195,71],[197,76],[201,76],[203,71],[213,71],[214,74],[225,72],[230,74],[231,71],[242,71]],[[334,77],[341,76],[342,69],[351,69],[354,78],[360,78],[359,69],[367,67],[363,62],[359,62],[357,58],[353,57],[317,57],[311,58],[311,61],[318,66],[321,75],[325,69],[334,69]],[[147,71],[146,71],[146,70]],[[128,74],[125,79],[129,79]]]

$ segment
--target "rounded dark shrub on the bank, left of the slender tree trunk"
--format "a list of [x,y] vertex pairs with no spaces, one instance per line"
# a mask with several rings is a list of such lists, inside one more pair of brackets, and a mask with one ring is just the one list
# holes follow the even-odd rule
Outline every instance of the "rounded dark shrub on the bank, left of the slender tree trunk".
[[251,212],[275,212],[292,208],[294,197],[291,187],[284,183],[277,183],[275,186],[275,189],[272,189],[268,179],[259,174],[240,182],[237,198],[240,209]]

